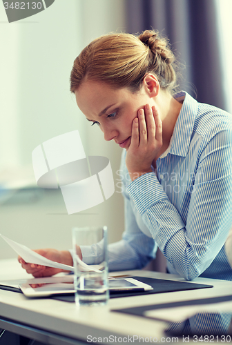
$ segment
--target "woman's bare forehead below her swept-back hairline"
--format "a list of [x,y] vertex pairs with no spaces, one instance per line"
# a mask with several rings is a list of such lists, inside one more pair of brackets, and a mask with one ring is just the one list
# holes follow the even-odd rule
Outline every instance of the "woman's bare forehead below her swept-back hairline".
[[88,119],[94,119],[110,104],[117,104],[128,97],[126,88],[115,89],[100,81],[84,81],[75,92],[77,106]]

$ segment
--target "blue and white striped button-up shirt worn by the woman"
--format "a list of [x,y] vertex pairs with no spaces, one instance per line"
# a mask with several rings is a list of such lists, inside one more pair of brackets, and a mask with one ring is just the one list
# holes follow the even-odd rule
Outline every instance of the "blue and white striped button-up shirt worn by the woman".
[[142,268],[159,246],[170,273],[232,280],[224,250],[232,225],[232,117],[186,92],[174,97],[183,105],[157,171],[131,181],[122,153],[125,231],[108,246],[109,268]]

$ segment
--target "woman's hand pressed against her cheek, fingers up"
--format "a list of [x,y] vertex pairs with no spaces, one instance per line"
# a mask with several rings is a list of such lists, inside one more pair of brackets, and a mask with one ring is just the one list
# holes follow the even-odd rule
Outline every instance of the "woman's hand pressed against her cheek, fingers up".
[[126,152],[126,167],[131,180],[151,172],[153,159],[162,147],[162,121],[149,104],[139,109],[132,124],[131,145]]

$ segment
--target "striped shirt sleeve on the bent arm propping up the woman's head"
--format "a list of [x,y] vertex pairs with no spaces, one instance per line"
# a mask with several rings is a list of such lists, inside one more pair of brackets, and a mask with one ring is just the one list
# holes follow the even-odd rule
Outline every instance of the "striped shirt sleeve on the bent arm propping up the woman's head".
[[153,172],[127,188],[169,264],[187,280],[209,267],[231,228],[231,142],[229,129],[202,141],[186,224]]

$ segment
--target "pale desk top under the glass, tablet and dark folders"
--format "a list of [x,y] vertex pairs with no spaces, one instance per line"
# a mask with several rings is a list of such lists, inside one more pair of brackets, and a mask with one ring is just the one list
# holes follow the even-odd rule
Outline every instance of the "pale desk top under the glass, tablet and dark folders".
[[[132,273],[132,271],[124,271],[123,273],[129,272]],[[122,274],[122,272],[117,274]],[[184,280],[177,275],[143,270],[135,270],[133,275]],[[12,279],[12,277],[28,279],[31,276],[26,274],[16,259],[7,259],[0,261],[0,277],[0,280],[3,280]],[[133,335],[157,338],[165,344],[165,322],[115,313],[111,312],[110,309],[218,297],[230,295],[232,291],[232,282],[205,278],[197,278],[193,282],[213,284],[214,287],[116,298],[110,299],[108,306],[84,306],[81,308],[77,308],[74,303],[60,302],[54,299],[28,299],[19,293],[0,290],[0,328],[31,339],[37,339],[44,344],[54,345],[87,344],[91,343],[88,340],[93,338],[101,338],[104,344],[118,344],[118,340],[121,340],[119,338],[124,337],[126,340],[128,336],[133,337]],[[117,342],[113,342],[112,339],[117,339]],[[123,340],[122,342],[126,343]],[[92,343],[95,342],[92,341]],[[135,339],[133,342],[133,344],[141,343],[139,339]]]

